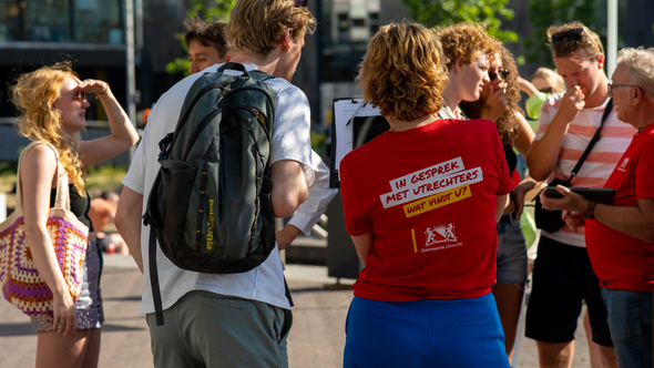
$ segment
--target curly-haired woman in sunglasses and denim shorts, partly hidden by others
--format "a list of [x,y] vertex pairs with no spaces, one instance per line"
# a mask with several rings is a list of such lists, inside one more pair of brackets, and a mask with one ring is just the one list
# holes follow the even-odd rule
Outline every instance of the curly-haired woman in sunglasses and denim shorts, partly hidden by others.
[[[509,172],[513,173],[518,165],[518,156],[513,149],[515,147],[525,157],[534,134],[518,105],[520,86],[513,54],[499,43],[497,52],[491,54],[488,73],[490,82],[483,84],[480,99],[476,102],[461,102],[460,108],[470,119],[487,119],[495,122],[502,139]],[[505,96],[505,104],[499,102],[501,95]],[[527,245],[520,227],[520,215],[524,206],[524,195],[534,185],[535,181],[528,177],[513,188],[509,206],[498,224],[495,276],[498,283],[493,286],[492,293],[502,320],[509,359],[513,355],[528,275]]]

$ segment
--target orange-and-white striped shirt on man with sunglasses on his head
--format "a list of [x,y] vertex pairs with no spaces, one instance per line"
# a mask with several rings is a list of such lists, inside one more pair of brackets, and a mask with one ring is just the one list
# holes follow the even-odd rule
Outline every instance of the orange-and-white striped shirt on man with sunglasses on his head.
[[[539,141],[548,131],[550,122],[559,112],[562,98],[563,93],[551,95],[544,103],[539,116],[534,141]],[[570,173],[600,127],[606,103],[609,103],[609,99],[600,106],[583,109],[570,122],[568,133],[561,143],[556,167],[550,175],[550,182],[553,178],[566,180],[570,177]],[[572,180],[572,186],[603,187],[635,133],[634,126],[617,120],[617,111],[613,108],[602,126],[600,141],[586,157],[578,175]],[[542,235],[564,244],[585,247],[583,231],[584,228],[581,227],[575,233],[568,226],[563,226],[554,233],[542,232]]]

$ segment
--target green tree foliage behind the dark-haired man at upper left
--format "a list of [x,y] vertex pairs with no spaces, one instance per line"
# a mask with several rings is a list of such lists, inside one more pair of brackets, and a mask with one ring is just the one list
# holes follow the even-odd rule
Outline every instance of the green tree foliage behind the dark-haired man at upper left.
[[[200,17],[207,22],[227,22],[229,21],[229,12],[236,4],[236,0],[193,0],[186,11],[186,18]],[[188,51],[188,45],[184,42],[184,33],[177,33],[180,44],[185,51]],[[188,72],[191,61],[188,58],[176,58],[166,64],[166,71],[170,74]]]

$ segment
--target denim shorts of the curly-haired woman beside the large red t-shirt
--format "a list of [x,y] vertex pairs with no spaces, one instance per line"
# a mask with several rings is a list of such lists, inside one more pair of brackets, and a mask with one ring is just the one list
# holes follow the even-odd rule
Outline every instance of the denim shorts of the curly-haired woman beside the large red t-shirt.
[[[498,224],[498,284],[527,283],[527,246],[520,227],[520,218]],[[504,217],[505,218],[505,217]]]

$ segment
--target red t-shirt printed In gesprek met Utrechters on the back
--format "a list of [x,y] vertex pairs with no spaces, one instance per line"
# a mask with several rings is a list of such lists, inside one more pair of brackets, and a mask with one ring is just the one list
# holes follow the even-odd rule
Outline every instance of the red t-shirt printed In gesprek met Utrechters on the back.
[[511,191],[489,121],[386,132],[339,167],[346,227],[374,234],[355,296],[380,301],[476,298],[495,283],[495,196]]

